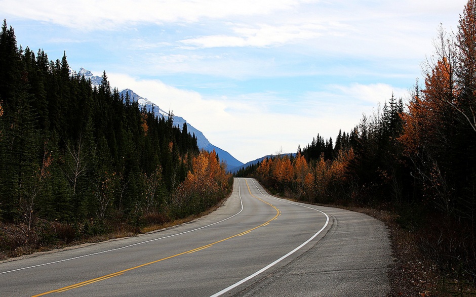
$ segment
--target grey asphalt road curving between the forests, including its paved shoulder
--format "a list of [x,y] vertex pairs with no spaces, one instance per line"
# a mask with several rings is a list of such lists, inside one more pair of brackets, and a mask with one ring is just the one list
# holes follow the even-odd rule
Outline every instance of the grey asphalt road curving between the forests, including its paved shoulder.
[[0,264],[0,296],[382,296],[385,226],[268,195],[253,179],[212,214],[122,240]]

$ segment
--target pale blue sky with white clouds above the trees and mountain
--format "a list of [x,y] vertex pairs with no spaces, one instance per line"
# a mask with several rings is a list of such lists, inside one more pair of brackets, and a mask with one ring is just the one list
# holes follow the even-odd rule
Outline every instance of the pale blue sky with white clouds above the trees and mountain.
[[248,162],[408,100],[463,0],[0,0],[18,45],[106,75]]

